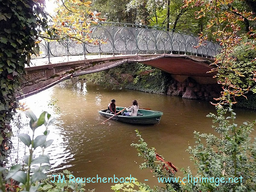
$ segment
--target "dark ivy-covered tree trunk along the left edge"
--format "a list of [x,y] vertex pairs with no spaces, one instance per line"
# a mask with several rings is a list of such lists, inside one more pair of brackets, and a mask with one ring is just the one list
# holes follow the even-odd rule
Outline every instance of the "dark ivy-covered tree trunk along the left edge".
[[7,163],[12,148],[10,121],[17,107],[15,93],[19,90],[30,55],[39,53],[35,44],[38,35],[42,29],[48,29],[43,3],[43,0],[0,0],[1,166]]

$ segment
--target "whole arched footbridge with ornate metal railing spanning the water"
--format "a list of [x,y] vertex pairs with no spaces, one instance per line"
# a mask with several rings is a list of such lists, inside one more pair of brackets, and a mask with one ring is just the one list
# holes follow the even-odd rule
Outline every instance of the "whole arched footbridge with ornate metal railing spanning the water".
[[212,82],[209,66],[221,47],[212,41],[198,45],[196,35],[165,28],[128,23],[99,22],[90,28],[99,44],[67,40],[41,41],[41,54],[26,67],[21,99],[72,77],[96,73],[124,63],[140,62],[171,73],[178,79],[193,77]]

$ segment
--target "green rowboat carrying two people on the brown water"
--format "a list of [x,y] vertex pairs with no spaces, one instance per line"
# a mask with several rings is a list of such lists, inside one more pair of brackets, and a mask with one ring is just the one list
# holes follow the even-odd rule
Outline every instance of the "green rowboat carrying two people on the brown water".
[[[122,107],[116,107],[116,113],[121,111]],[[107,109],[99,111],[99,114],[101,116],[105,116],[110,118],[113,116],[111,113],[106,113]],[[123,112],[127,112],[124,110]],[[121,121],[125,123],[130,123],[130,124],[140,124],[140,125],[150,125],[150,124],[156,124],[160,122],[160,118],[163,115],[163,112],[160,111],[151,111],[151,110],[144,110],[144,109],[139,109],[137,116],[122,116],[122,115],[117,115],[113,116],[113,120],[116,121]]]

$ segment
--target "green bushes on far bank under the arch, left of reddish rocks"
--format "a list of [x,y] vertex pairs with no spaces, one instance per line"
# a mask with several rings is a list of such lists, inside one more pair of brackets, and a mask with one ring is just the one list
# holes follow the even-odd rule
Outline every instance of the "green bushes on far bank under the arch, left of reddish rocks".
[[144,64],[123,64],[110,70],[84,76],[89,82],[112,89],[134,89],[149,93],[166,93],[169,75]]

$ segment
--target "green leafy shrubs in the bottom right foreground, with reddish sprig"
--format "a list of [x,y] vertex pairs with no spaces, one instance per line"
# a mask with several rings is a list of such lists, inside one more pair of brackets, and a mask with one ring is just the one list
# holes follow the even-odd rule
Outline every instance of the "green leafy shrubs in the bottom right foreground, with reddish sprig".
[[[227,93],[228,94],[228,93]],[[256,188],[256,140],[252,141],[250,133],[256,121],[243,122],[240,126],[236,124],[236,113],[233,111],[233,103],[228,95],[228,107],[216,107],[218,115],[210,113],[212,117],[216,135],[200,134],[195,131],[196,145],[189,147],[188,151],[192,155],[191,160],[195,163],[197,173],[192,174],[189,168],[181,169],[183,177],[172,180],[175,177],[177,168],[156,153],[157,149],[148,148],[137,131],[139,137],[138,144],[131,144],[139,151],[138,155],[145,159],[140,168],[151,169],[151,172],[163,180],[165,187],[149,187],[148,192],[227,192],[254,191]],[[225,114],[229,111],[230,116]],[[217,125],[216,125],[217,124]],[[168,180],[169,178],[169,180]],[[171,178],[171,179],[170,179]],[[185,180],[183,179],[185,178]],[[188,178],[189,181],[188,181]],[[230,182],[230,178],[233,178]],[[141,186],[143,186],[141,184]],[[126,191],[126,186],[121,188]],[[131,187],[132,189],[133,187]],[[129,189],[129,190],[131,190]],[[122,191],[120,190],[120,191]]]

